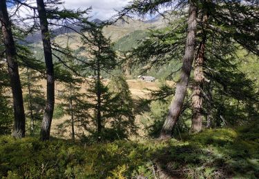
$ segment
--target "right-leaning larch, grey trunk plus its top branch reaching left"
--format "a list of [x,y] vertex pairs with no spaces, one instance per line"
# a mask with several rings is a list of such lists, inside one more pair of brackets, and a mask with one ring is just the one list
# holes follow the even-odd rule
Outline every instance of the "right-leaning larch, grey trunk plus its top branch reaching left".
[[[182,111],[184,104],[184,98],[186,95],[186,89],[191,74],[191,68],[193,63],[193,56],[195,54],[195,40],[196,40],[196,28],[197,28],[197,14],[198,4],[196,1],[190,0],[189,3],[189,16],[188,16],[188,30],[186,33],[186,43],[184,57],[182,60],[182,70],[180,79],[176,85],[175,97],[169,107],[169,114],[164,121],[164,125],[161,129],[160,138],[171,138],[174,125],[177,123],[178,118]],[[186,1],[134,1],[130,6],[124,8],[121,12],[121,16],[128,14],[129,12],[137,12],[138,14],[146,14],[147,12],[157,12],[161,6],[175,6],[186,7]]]

